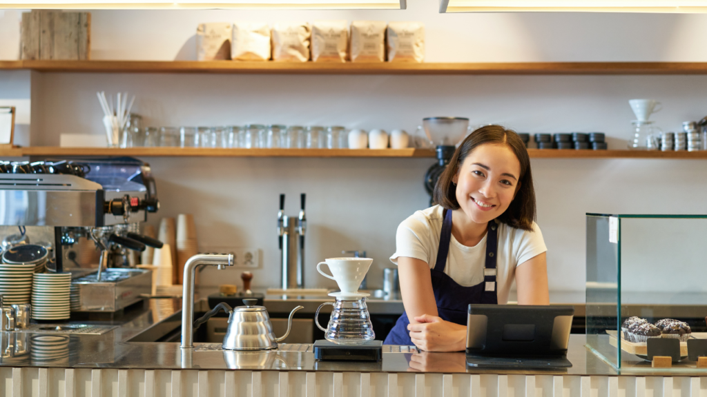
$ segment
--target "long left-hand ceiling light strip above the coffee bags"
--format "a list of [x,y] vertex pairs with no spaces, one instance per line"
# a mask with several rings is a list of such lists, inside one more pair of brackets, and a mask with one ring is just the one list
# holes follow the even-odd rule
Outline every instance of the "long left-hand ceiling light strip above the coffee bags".
[[0,0],[22,9],[239,9],[239,10],[404,10],[407,0]]

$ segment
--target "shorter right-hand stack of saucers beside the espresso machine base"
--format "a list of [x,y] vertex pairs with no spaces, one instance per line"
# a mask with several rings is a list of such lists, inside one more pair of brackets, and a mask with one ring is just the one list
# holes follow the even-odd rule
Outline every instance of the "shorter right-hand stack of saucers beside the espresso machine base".
[[71,273],[33,275],[32,318],[35,320],[68,319]]

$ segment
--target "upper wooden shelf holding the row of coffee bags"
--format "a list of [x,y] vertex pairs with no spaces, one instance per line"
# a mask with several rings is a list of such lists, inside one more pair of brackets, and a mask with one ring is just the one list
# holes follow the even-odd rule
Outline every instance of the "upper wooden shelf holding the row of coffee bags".
[[706,62],[505,62],[327,64],[240,61],[0,61],[1,69],[81,73],[264,73],[417,75],[707,74]]

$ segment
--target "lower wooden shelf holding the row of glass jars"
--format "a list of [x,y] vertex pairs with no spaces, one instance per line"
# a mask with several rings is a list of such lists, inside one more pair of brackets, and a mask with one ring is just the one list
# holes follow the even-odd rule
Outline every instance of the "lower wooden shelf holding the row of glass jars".
[[[660,152],[647,150],[539,150],[530,158],[645,158],[707,160],[707,150]],[[57,148],[30,146],[0,150],[0,157],[22,156],[135,156],[135,157],[299,157],[299,158],[435,158],[431,149],[209,149],[209,148]]]

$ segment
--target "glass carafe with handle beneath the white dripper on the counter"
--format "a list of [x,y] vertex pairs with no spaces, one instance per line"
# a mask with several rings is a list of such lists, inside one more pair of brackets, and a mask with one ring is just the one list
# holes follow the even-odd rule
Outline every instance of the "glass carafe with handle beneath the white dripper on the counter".
[[[363,294],[360,294],[363,295]],[[337,297],[335,302],[324,302],[317,308],[315,321],[317,327],[325,332],[325,339],[339,345],[358,345],[375,339],[373,324],[366,307],[366,297],[347,297],[349,300]],[[327,304],[334,307],[327,328],[320,326],[319,311]]]

